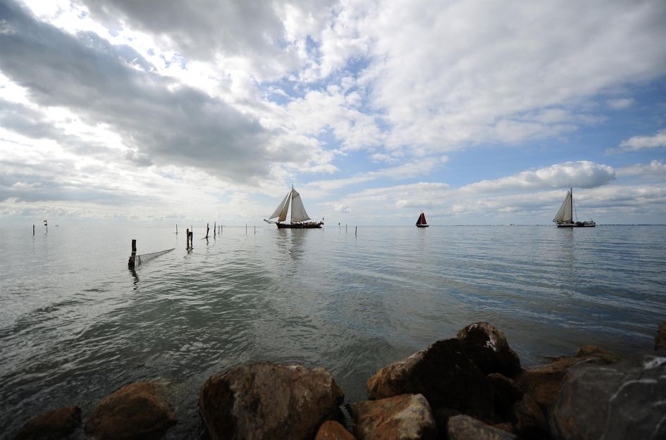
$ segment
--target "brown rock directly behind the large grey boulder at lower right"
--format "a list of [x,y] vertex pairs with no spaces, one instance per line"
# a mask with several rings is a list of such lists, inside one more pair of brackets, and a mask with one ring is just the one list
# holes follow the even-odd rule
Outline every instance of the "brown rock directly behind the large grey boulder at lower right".
[[570,367],[579,363],[610,365],[619,356],[598,346],[579,348],[574,356],[562,356],[548,365],[524,370],[518,379],[523,391],[529,393],[544,410],[550,410],[560,394],[562,382]]

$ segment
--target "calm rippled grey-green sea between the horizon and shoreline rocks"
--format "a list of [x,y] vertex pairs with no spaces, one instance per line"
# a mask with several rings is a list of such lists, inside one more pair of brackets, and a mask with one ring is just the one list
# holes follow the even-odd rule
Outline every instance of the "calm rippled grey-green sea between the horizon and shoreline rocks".
[[[347,401],[379,368],[484,320],[524,365],[598,344],[651,348],[666,319],[666,227],[0,229],[0,434],[140,380],[202,436],[199,387],[254,360],[322,365]],[[211,232],[212,234],[212,232]],[[175,251],[127,268],[139,253]]]

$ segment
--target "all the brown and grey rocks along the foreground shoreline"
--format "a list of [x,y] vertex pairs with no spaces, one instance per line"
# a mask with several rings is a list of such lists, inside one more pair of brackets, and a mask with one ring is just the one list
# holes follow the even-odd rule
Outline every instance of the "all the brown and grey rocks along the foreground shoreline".
[[[499,329],[476,322],[378,370],[366,391],[346,404],[345,427],[343,391],[322,367],[238,365],[202,384],[200,429],[213,440],[666,438],[666,322],[655,351],[622,359],[582,346],[527,369]],[[137,382],[106,396],[85,429],[69,406],[33,417],[15,439],[159,439],[175,422],[164,387]]]

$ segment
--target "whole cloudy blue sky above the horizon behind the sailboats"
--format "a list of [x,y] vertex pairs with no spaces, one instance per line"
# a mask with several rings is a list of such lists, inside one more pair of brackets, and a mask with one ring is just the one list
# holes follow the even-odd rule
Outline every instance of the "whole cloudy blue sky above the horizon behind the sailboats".
[[666,223],[666,2],[0,0],[0,226]]

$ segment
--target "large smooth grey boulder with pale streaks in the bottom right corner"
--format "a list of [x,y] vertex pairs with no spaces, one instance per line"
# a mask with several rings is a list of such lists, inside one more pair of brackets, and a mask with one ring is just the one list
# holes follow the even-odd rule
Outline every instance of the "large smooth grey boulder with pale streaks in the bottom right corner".
[[666,439],[666,356],[569,369],[553,408],[562,440]]

